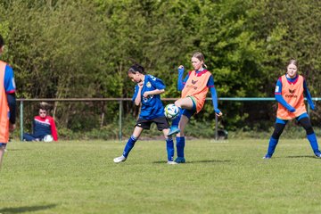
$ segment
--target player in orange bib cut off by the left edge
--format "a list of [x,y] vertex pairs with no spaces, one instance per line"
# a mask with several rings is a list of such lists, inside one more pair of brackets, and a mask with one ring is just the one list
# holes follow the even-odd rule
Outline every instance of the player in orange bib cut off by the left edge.
[[[4,52],[4,38],[0,35],[0,55]],[[15,128],[15,83],[12,68],[0,61],[0,167],[9,131]]]

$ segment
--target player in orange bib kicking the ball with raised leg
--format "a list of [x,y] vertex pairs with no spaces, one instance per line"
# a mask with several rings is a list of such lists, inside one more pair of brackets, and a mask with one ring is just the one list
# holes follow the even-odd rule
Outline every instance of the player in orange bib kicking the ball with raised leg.
[[[222,112],[218,109],[218,96],[214,86],[214,78],[209,70],[206,70],[202,53],[193,53],[193,70],[189,71],[183,81],[184,66],[178,67],[177,89],[182,91],[182,96],[175,102],[179,108],[179,116],[174,119],[169,130],[169,135],[177,134],[177,163],[185,163],[185,135],[184,129],[193,114],[198,113],[204,106],[206,95],[211,92],[214,111],[218,116]],[[203,68],[205,67],[205,68]]]

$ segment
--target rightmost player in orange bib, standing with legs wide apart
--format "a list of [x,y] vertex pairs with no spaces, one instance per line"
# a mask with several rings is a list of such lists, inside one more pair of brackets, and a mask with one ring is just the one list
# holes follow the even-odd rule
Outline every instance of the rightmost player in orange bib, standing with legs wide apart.
[[270,159],[272,157],[287,121],[294,118],[297,119],[300,125],[306,130],[307,138],[317,158],[321,158],[321,152],[318,150],[317,145],[317,136],[309,120],[303,94],[306,95],[312,110],[315,110],[315,106],[309,94],[305,79],[298,75],[297,72],[297,62],[291,60],[288,63],[286,74],[276,82],[275,96],[278,102],[276,126],[269,140],[268,153],[263,157],[264,159]]

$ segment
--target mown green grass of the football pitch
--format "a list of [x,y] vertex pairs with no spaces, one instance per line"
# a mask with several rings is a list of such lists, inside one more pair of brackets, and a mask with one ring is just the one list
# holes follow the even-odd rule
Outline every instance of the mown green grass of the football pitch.
[[186,163],[166,164],[165,142],[138,141],[115,164],[117,141],[12,142],[0,213],[318,213],[321,160],[305,139],[186,142]]

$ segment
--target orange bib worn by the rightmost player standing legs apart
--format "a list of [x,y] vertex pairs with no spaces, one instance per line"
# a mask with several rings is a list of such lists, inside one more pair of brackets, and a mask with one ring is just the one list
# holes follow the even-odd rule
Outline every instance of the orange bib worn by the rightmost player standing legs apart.
[[294,109],[294,112],[288,111],[281,103],[278,103],[276,117],[279,119],[294,119],[302,113],[307,112],[304,97],[303,97],[303,81],[304,78],[299,75],[298,80],[294,83],[289,82],[285,75],[281,77],[282,81],[282,96],[286,103],[289,103]]

